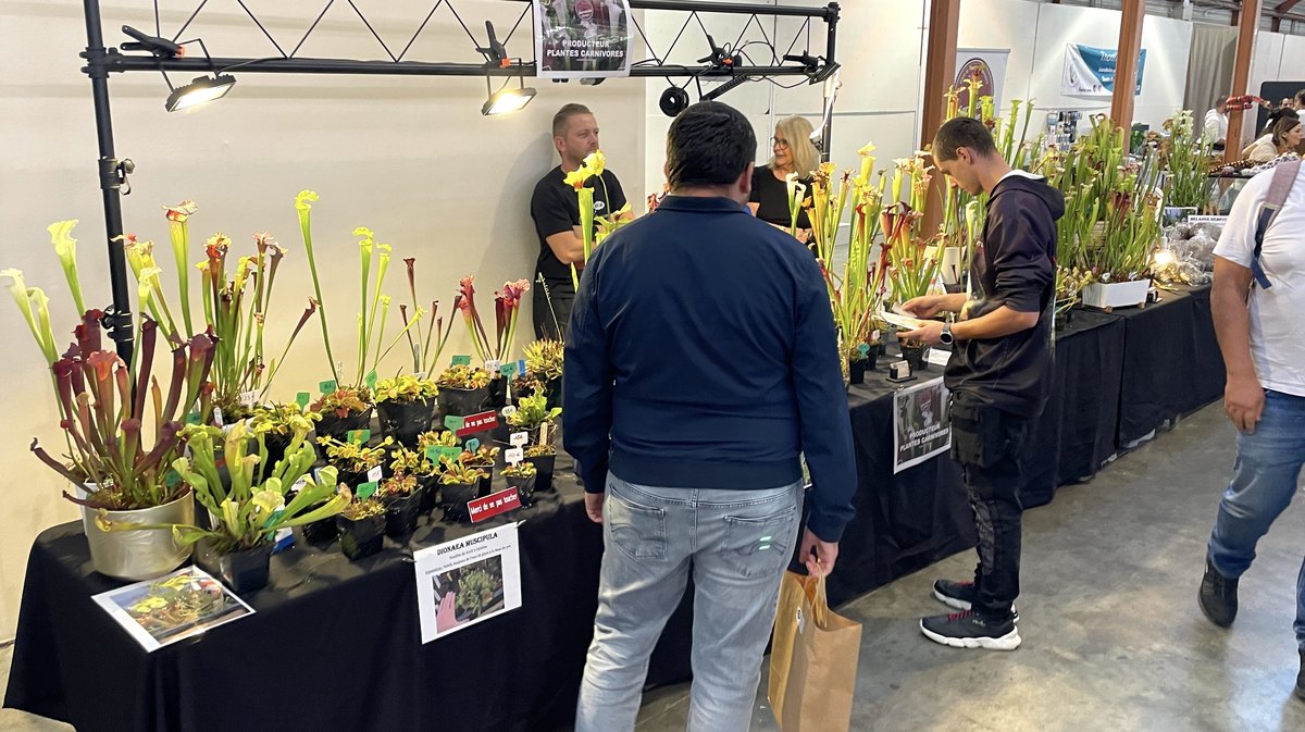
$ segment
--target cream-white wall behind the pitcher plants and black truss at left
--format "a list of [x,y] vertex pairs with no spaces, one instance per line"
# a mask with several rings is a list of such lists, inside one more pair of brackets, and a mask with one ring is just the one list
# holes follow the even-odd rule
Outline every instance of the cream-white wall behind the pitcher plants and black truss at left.
[[[146,0],[107,1],[103,25],[108,43],[125,40],[117,31],[123,23],[153,29],[151,5]],[[164,29],[176,29],[196,3],[184,4],[184,10],[183,4],[164,5],[174,8],[164,13]],[[249,5],[266,13],[269,30],[290,46],[322,8],[322,3],[309,0]],[[431,3],[360,7],[382,38],[401,48]],[[522,5],[459,0],[457,9],[478,34],[484,33],[482,21],[492,20],[502,37]],[[90,90],[78,72],[77,53],[86,44],[84,27],[80,3],[0,0],[0,40],[9,59],[0,77],[0,149],[5,154],[0,223],[7,241],[0,269],[22,269],[29,284],[47,290],[55,303],[57,333],[72,329],[73,313],[48,245],[48,223],[81,219],[77,237],[86,297],[97,304],[108,299]],[[318,33],[303,55],[384,57],[346,3],[331,8]],[[410,57],[479,60],[448,10],[440,10],[428,33]],[[209,50],[222,56],[274,52],[235,3],[210,3],[185,34],[194,37],[202,37]],[[518,31],[509,52],[530,57],[529,39],[529,33]],[[159,76],[111,80],[117,151],[137,163],[134,191],[124,200],[125,228],[161,243],[159,260],[167,271],[163,204],[196,200],[200,213],[192,219],[192,236],[202,241],[224,231],[241,253],[252,249],[253,232],[271,231],[291,251],[277,282],[277,299],[284,309],[279,322],[269,325],[269,333],[286,334],[312,288],[294,197],[303,188],[316,189],[321,201],[315,207],[315,243],[337,358],[346,363],[352,356],[341,352],[355,352],[358,251],[350,236],[355,226],[369,226],[381,241],[394,245],[388,291],[397,301],[407,300],[402,256],[418,257],[420,294],[438,297],[445,308],[463,274],[478,274],[487,300],[505,279],[532,275],[538,240],[529,197],[535,180],[556,164],[548,125],[562,103],[579,100],[594,108],[611,166],[632,201],[643,197],[645,114],[638,81],[590,87],[536,80],[539,98],[523,112],[485,119],[480,116],[483,80],[235,74],[239,84],[228,98],[179,115],[163,111],[167,90]],[[183,74],[174,81],[188,80]],[[198,257],[198,249],[192,252],[193,261]],[[175,275],[167,277],[167,282],[174,281]],[[57,497],[60,481],[27,451],[33,436],[59,444],[55,406],[35,344],[17,309],[8,304],[8,294],[4,299],[0,333],[12,343],[14,356],[4,372],[5,418],[0,419],[0,465],[7,468],[8,484],[0,510],[0,638],[10,637],[17,622],[33,539],[76,517]],[[529,313],[522,324],[525,341],[532,337]],[[316,328],[305,330],[278,377],[275,397],[292,398],[295,391],[329,378]],[[462,337],[461,326],[457,334]],[[270,342],[279,348],[279,337]],[[465,350],[466,342],[458,348]],[[399,365],[398,360],[386,364],[390,369]]]

